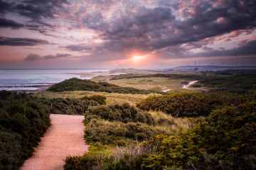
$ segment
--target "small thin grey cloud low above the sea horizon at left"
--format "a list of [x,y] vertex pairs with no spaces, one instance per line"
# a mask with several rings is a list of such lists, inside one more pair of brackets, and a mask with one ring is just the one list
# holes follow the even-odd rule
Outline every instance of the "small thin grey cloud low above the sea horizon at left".
[[54,59],[59,59],[59,58],[65,58],[65,57],[70,57],[71,55],[69,54],[59,54],[57,53],[56,55],[37,55],[37,54],[30,54],[27,57],[24,58],[24,61],[26,62],[34,62],[37,60],[54,60]]

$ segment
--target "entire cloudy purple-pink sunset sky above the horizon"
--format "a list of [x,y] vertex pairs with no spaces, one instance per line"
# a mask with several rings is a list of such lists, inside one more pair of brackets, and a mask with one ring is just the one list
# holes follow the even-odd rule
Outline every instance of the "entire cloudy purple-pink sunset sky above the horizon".
[[256,65],[255,0],[0,0],[0,68]]

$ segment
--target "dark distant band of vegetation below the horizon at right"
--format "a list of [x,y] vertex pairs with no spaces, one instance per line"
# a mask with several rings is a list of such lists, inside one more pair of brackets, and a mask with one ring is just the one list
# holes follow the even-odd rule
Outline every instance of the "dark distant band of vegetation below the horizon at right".
[[201,72],[201,74],[120,74],[116,79],[134,79],[146,77],[165,77],[169,79],[198,80],[192,87],[202,87],[210,91],[225,91],[245,94],[256,89],[255,70],[225,70],[218,72]]

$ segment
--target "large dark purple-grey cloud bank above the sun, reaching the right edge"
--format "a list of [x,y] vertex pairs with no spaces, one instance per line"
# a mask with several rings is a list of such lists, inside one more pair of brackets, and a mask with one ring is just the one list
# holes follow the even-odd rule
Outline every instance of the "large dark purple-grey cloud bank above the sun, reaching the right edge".
[[[159,50],[164,47],[196,42],[233,30],[255,28],[256,1],[224,1],[215,5],[216,1],[198,1],[193,6],[193,13],[188,15],[185,8],[178,4],[159,6],[157,8],[137,8],[121,18],[96,23],[91,17],[85,19],[85,25],[100,30],[100,38],[107,40],[102,46],[105,50],[120,51],[140,49],[144,51]],[[188,1],[188,3],[191,3]],[[171,10],[172,8],[172,10]],[[174,10],[181,11],[178,18]],[[100,16],[98,13],[97,16]]]

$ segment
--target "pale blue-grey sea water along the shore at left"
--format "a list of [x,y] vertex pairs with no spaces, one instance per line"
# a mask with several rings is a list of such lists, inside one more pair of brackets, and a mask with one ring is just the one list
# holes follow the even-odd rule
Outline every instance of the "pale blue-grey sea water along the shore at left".
[[65,79],[81,77],[80,73],[107,72],[109,69],[0,69],[0,90],[34,91],[41,86],[55,84]]

